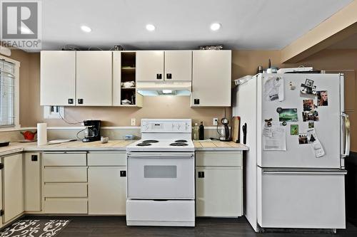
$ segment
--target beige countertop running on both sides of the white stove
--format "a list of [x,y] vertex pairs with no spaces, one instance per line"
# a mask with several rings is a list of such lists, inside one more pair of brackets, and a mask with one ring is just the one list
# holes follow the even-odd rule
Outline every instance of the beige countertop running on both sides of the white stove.
[[[126,146],[134,140],[111,140],[101,142],[64,142],[61,144],[46,144],[38,146],[36,142],[19,143],[11,142],[7,147],[0,147],[0,156],[17,152],[51,152],[51,151],[125,151]],[[243,144],[219,141],[195,141],[196,150],[248,150]]]

